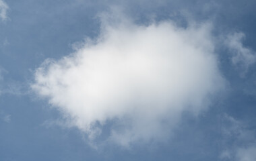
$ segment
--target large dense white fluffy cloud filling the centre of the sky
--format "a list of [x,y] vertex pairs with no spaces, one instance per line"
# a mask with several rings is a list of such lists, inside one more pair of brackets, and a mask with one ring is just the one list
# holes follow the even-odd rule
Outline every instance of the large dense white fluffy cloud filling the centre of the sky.
[[101,21],[98,38],[61,60],[45,60],[31,86],[89,140],[104,127],[106,140],[122,146],[165,140],[183,112],[198,115],[222,89],[209,23]]

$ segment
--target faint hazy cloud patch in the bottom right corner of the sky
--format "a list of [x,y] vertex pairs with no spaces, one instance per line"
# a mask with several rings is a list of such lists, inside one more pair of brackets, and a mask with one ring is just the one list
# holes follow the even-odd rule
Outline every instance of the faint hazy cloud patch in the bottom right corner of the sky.
[[222,132],[224,133],[224,144],[220,158],[222,160],[252,161],[256,160],[256,138],[255,131],[249,125],[224,115],[225,123]]

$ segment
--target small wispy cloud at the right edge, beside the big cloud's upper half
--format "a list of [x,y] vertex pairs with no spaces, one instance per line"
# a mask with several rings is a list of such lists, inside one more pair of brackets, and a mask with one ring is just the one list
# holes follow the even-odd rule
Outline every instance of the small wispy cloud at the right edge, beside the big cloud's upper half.
[[256,56],[253,50],[243,46],[242,40],[244,38],[245,34],[235,32],[227,37],[226,44],[232,51],[232,63],[246,72],[249,66],[255,63]]

